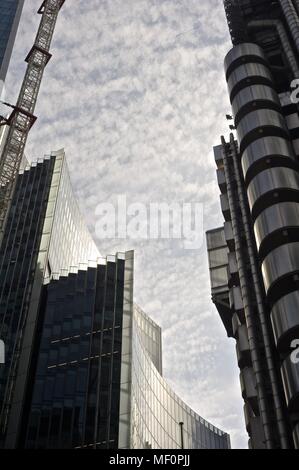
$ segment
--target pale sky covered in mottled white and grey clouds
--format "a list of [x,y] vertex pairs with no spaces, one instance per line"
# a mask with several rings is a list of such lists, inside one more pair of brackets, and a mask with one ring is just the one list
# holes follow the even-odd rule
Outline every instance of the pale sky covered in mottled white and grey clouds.
[[[25,0],[6,82],[15,102],[41,0]],[[163,329],[164,376],[197,413],[247,447],[234,341],[211,302],[205,242],[97,237],[99,206],[200,204],[222,225],[213,146],[229,129],[222,0],[66,0],[29,160],[64,148],[100,252],[135,250],[135,300]],[[203,238],[204,239],[204,238]]]

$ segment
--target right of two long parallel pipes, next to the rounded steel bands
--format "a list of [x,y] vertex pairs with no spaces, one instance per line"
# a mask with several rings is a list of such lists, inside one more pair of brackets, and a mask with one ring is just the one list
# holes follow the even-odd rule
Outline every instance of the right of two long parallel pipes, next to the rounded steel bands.
[[266,357],[267,367],[269,370],[269,377],[270,377],[271,389],[272,389],[272,394],[273,394],[274,410],[275,410],[275,416],[276,416],[276,421],[277,421],[278,435],[279,435],[281,448],[289,449],[288,432],[287,432],[287,428],[285,425],[284,412],[282,408],[281,397],[280,397],[279,387],[278,387],[277,373],[276,373],[276,369],[275,369],[275,365],[273,361],[273,348],[271,346],[269,328],[268,328],[268,323],[267,323],[267,315],[266,315],[265,308],[264,308],[263,295],[262,295],[262,290],[261,290],[261,286],[259,282],[258,267],[257,267],[257,262],[256,262],[256,252],[254,250],[254,246],[252,242],[252,236],[251,236],[250,225],[249,225],[249,214],[248,214],[247,205],[245,203],[243,185],[241,183],[241,177],[240,177],[241,169],[239,167],[238,160],[237,160],[238,150],[237,150],[237,145],[236,145],[233,134],[231,134],[231,137],[230,137],[230,145],[231,145],[231,149],[233,152],[233,162],[234,162],[235,177],[237,181],[238,198],[239,198],[240,209],[241,209],[242,219],[243,219],[243,224],[244,224],[244,229],[245,229],[246,244],[247,244],[249,260],[250,260],[250,269],[251,269],[254,291],[255,291],[256,300],[257,300],[257,310],[258,310],[259,320],[260,320],[261,329],[262,329],[263,338],[264,338],[265,357]]

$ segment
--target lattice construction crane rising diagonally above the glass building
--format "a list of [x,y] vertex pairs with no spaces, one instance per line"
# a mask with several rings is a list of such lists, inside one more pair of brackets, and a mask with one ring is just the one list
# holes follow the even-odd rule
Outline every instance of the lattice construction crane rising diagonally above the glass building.
[[38,13],[42,15],[33,47],[26,57],[27,70],[15,106],[8,119],[0,116],[0,126],[9,130],[0,160],[0,232],[13,194],[29,131],[36,121],[34,110],[44,70],[51,59],[50,46],[59,11],[65,0],[44,0]]

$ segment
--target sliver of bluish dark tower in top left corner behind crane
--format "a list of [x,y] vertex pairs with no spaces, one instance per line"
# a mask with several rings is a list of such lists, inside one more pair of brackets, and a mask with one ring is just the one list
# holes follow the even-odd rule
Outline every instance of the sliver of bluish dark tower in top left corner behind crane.
[[5,81],[23,5],[24,0],[0,2],[0,95],[1,82]]

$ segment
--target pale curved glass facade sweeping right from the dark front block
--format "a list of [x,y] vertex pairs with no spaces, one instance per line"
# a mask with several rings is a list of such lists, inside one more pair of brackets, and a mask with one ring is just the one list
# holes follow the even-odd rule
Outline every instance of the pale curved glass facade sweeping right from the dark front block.
[[[205,421],[171,389],[155,367],[151,356],[160,350],[153,345],[157,326],[139,308],[134,309],[132,340],[131,448],[227,449],[228,434]],[[144,342],[144,331],[150,338]],[[158,339],[158,337],[157,337]],[[147,344],[151,344],[150,350]],[[183,424],[180,424],[183,423]]]

